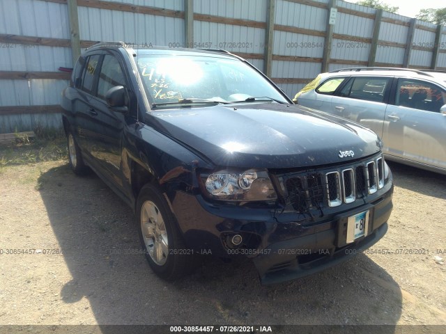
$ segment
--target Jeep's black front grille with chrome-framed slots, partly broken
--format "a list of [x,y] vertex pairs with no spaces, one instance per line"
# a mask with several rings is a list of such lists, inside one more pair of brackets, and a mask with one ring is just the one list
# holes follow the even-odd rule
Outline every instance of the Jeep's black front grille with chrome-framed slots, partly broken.
[[379,156],[317,173],[287,173],[279,180],[285,185],[286,202],[297,212],[309,213],[353,203],[383,188],[384,159]]

